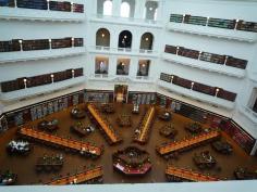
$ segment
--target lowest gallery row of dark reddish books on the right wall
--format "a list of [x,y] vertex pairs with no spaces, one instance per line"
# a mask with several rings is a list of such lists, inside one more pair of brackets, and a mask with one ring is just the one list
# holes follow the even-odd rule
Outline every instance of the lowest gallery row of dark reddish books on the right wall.
[[[187,89],[193,89],[194,91],[201,92],[205,94],[209,94],[209,95],[213,95],[213,97],[217,94],[218,98],[221,98],[221,99],[224,99],[228,101],[235,101],[235,98],[236,98],[236,93],[234,93],[234,92],[227,91],[222,88],[217,88],[217,87],[208,86],[208,85],[200,84],[200,82],[194,82],[189,79],[181,78],[175,75],[161,73],[160,80],[171,82],[171,84],[174,84],[176,86],[184,87]],[[217,90],[219,90],[219,91],[217,91]]]

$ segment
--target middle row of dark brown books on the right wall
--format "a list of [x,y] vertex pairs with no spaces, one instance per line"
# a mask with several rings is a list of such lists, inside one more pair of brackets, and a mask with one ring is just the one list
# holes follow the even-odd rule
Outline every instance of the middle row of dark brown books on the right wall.
[[242,69],[245,69],[248,63],[247,60],[242,60],[242,59],[233,57],[230,55],[200,52],[197,50],[192,50],[192,49],[187,49],[187,48],[183,48],[179,46],[166,44],[164,52],[171,53],[171,54],[178,54],[180,56],[191,57],[195,60],[200,60],[205,62],[210,62],[210,63],[225,64],[228,66],[242,68]]

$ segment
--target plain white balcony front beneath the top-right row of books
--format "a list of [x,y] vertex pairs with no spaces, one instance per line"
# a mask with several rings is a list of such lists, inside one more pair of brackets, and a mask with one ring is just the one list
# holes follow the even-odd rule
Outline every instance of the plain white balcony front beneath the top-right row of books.
[[184,24],[184,23],[169,22],[167,24],[167,29],[172,31],[195,34],[200,36],[223,38],[223,39],[245,41],[245,42],[255,42],[257,40],[256,33],[235,30],[235,29],[223,29],[223,28],[208,27],[201,25]]

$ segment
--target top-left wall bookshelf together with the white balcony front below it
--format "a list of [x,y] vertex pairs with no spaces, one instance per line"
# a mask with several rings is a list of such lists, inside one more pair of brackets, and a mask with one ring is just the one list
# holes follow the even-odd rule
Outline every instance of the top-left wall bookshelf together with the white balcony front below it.
[[47,0],[2,0],[0,18],[83,22],[84,2]]

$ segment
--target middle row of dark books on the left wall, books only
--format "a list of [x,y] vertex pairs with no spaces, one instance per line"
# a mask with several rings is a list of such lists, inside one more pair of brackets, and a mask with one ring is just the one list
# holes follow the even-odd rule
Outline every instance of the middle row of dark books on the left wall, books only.
[[[50,49],[50,44],[52,49],[71,48],[72,38],[51,39],[51,41],[49,39],[12,39],[0,41],[0,52],[47,50]],[[83,47],[83,38],[74,38],[73,46]]]

